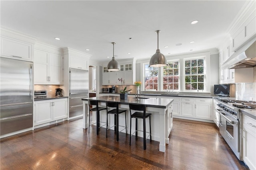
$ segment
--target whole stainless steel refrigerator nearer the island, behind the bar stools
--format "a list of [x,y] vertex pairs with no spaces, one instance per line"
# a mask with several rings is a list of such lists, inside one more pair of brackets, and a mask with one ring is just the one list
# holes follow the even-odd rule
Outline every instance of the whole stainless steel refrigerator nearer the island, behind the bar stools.
[[82,98],[89,95],[89,72],[70,68],[69,70],[69,117],[83,114]]

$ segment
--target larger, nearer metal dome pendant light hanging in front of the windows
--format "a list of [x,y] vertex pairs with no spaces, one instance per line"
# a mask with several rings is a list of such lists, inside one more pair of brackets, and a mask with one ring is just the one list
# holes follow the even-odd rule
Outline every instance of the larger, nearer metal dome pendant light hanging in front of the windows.
[[164,55],[162,53],[160,53],[160,49],[158,49],[158,33],[160,33],[160,30],[156,30],[157,33],[157,50],[156,53],[154,55],[152,55],[150,62],[149,62],[149,66],[150,67],[162,67],[162,66],[166,66],[167,62],[166,62],[166,58],[164,57]]

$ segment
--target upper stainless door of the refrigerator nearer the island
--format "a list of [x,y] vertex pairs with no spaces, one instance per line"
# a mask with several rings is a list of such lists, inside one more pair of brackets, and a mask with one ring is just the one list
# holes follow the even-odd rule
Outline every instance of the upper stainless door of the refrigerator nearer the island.
[[69,71],[69,96],[70,98],[88,97],[89,94],[89,72],[70,68]]

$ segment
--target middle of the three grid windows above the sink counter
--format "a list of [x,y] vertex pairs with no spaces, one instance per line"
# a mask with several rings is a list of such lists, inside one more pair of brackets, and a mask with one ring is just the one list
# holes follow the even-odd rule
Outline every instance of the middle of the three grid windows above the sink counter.
[[163,67],[163,90],[179,90],[179,62],[168,62]]

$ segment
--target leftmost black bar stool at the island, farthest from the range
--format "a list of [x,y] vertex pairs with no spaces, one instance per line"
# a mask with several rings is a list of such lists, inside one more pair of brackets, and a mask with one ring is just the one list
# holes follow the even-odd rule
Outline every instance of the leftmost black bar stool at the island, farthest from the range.
[[[90,126],[94,125],[95,123],[90,125],[90,111],[96,111],[96,125],[97,125],[97,135],[99,134],[99,128],[100,128],[100,111],[107,109],[106,107],[99,107],[98,106],[98,101],[97,100],[88,100],[88,106],[89,106],[89,125],[88,125],[88,133],[90,133]],[[92,107],[90,109],[90,106],[96,106]],[[101,122],[101,123],[106,123],[106,122]],[[104,125],[102,125],[104,126]],[[102,127],[101,126],[101,127]]]

